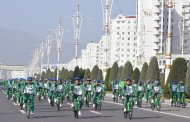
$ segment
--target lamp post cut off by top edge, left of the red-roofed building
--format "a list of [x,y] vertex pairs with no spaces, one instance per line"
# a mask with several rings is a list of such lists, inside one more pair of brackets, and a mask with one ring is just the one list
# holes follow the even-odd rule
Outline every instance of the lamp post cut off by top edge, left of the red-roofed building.
[[104,62],[103,62],[103,75],[104,78],[108,68],[108,36],[110,34],[110,20],[113,0],[101,0],[102,2],[102,13],[103,13],[103,31],[105,33],[105,47],[104,47]]

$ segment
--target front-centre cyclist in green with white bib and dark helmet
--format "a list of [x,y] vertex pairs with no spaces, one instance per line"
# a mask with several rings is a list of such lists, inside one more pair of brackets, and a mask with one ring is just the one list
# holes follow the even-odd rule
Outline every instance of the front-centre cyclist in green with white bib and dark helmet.
[[74,107],[74,101],[76,101],[78,99],[79,103],[80,103],[80,107],[79,107],[79,111],[78,111],[78,115],[81,116],[81,108],[83,105],[83,101],[82,101],[82,96],[83,96],[83,86],[81,86],[80,83],[80,78],[79,77],[75,77],[75,84],[72,86],[71,91],[72,91],[72,105],[71,107]]

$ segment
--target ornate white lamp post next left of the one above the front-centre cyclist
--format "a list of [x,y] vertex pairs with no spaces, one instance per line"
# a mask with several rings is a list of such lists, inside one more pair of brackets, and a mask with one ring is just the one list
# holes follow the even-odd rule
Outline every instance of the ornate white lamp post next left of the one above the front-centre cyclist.
[[59,79],[60,52],[61,52],[63,32],[64,29],[62,28],[61,20],[59,20],[59,26],[55,31],[56,41],[57,41],[57,80]]

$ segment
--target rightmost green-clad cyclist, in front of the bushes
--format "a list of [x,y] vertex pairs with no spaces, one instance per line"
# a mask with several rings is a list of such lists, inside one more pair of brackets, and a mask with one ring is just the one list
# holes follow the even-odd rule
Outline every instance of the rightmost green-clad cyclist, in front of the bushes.
[[177,88],[179,104],[185,104],[185,94],[186,93],[187,93],[187,87],[183,81],[180,81],[178,88]]

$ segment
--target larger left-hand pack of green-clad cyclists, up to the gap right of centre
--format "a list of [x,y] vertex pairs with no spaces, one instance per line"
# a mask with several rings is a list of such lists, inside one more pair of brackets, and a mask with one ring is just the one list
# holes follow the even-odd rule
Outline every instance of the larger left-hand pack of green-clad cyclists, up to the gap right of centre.
[[57,105],[60,110],[63,101],[66,99],[71,102],[71,107],[77,116],[81,115],[83,103],[87,107],[93,101],[92,106],[97,110],[101,109],[102,100],[106,94],[104,81],[87,79],[86,81],[75,77],[74,80],[63,81],[55,78],[34,80],[33,77],[27,79],[9,79],[5,81],[6,94],[8,99],[12,99],[15,105],[20,106],[21,110],[26,107],[30,100],[30,114],[34,114],[34,98],[39,101],[47,99],[53,107]]

